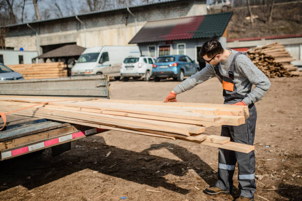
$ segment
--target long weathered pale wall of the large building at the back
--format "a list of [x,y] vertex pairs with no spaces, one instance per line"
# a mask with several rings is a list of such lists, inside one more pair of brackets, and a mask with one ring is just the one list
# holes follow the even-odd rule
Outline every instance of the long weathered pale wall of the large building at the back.
[[[182,0],[130,9],[137,17],[137,32],[147,21],[206,14],[205,0]],[[135,35],[135,18],[126,9],[30,24],[38,31],[38,45],[76,42],[82,47],[128,45]],[[10,27],[5,37],[8,47],[37,50],[36,33],[26,25]],[[42,53],[39,48],[39,54]]]

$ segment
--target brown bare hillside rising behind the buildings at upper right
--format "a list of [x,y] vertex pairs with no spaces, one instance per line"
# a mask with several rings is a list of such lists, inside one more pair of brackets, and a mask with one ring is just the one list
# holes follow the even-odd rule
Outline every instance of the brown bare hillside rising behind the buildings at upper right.
[[[273,6],[272,22],[268,22],[270,6],[252,6],[252,14],[256,16],[251,25],[247,7],[230,8],[233,16],[227,27],[227,39],[261,37],[270,35],[301,34],[302,1],[278,3]],[[209,13],[217,13],[210,11]]]

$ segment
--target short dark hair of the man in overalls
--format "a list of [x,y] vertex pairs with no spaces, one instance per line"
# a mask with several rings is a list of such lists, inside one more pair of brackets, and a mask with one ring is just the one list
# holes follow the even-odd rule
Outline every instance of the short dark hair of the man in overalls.
[[217,54],[224,52],[224,48],[221,46],[221,43],[218,40],[210,39],[207,40],[200,48],[199,55],[203,57],[207,55],[208,57],[214,57]]

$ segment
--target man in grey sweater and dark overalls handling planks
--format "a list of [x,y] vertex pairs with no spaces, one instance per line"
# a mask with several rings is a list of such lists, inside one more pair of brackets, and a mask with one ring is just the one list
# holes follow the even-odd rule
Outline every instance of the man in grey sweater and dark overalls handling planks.
[[[221,135],[230,137],[234,142],[253,145],[257,119],[254,103],[260,100],[270,87],[268,78],[244,53],[224,49],[217,40],[206,41],[199,54],[206,61],[206,67],[177,85],[165,102],[177,101],[177,94],[192,89],[216,75],[223,84],[224,103],[248,105],[250,115],[244,125],[222,126]],[[256,87],[251,91],[253,84]],[[240,197],[236,201],[254,201],[256,191],[254,151],[246,154],[219,149],[218,181],[214,187],[207,188],[204,192],[209,195],[231,193],[236,162],[240,189]]]

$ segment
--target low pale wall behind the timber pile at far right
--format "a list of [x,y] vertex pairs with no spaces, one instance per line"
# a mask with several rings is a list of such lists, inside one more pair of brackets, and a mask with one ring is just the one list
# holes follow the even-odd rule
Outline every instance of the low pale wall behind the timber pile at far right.
[[259,47],[266,44],[278,42],[285,46],[287,51],[291,54],[294,60],[302,60],[302,37],[296,38],[279,38],[279,39],[262,39],[262,40],[251,40],[251,41],[233,41],[227,42],[228,48],[238,47]]

